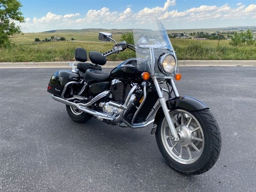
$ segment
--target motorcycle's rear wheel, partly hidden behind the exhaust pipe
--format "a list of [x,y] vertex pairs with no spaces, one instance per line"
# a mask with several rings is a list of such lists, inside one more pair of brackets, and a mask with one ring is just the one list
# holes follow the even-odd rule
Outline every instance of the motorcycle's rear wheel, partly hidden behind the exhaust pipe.
[[68,112],[68,116],[78,123],[84,123],[92,118],[92,115],[82,112],[74,107],[66,105],[66,110]]

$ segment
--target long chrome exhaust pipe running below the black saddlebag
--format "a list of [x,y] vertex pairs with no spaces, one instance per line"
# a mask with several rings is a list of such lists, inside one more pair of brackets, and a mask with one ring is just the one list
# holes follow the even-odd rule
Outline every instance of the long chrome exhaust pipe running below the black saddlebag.
[[[79,110],[82,111],[82,112],[88,113],[88,114],[93,115],[93,116],[96,116],[96,117],[98,117],[98,118],[103,118],[103,119],[113,120],[113,121],[117,121],[118,118],[119,118],[119,116],[117,116],[116,118],[113,118],[113,117],[108,116],[108,115],[106,115],[106,114],[104,114],[104,113],[100,113],[100,112],[97,112],[97,111],[88,109],[88,108],[86,108],[86,107],[84,107],[84,106],[81,106],[81,103],[77,103],[77,104],[76,104],[76,103],[70,102],[70,101],[68,101],[68,100],[62,99],[62,98],[60,98],[60,97],[56,97],[56,96],[54,96],[54,95],[52,95],[52,98],[53,98],[54,100],[58,101],[58,102],[61,102],[61,103],[65,104],[65,105],[68,105],[68,106],[72,106],[72,107],[74,107],[74,108],[79,109]],[[82,104],[82,105],[84,105],[84,104]]]

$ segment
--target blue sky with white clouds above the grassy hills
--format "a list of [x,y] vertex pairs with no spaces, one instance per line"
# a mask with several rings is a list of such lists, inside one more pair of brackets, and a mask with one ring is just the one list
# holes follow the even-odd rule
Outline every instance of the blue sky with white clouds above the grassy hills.
[[24,32],[132,28],[143,14],[167,29],[256,25],[256,0],[20,0]]

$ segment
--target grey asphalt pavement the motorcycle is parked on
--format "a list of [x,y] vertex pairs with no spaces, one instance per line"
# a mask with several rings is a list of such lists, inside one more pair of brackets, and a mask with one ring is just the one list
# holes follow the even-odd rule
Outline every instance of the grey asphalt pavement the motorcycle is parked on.
[[0,70],[0,191],[256,190],[256,67],[180,68],[180,95],[208,104],[222,132],[219,160],[198,176],[166,164],[150,126],[72,122],[46,92],[53,72]]

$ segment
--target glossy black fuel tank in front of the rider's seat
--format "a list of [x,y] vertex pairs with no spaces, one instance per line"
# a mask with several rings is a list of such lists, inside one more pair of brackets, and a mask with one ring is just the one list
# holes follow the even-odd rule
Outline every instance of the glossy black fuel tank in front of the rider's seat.
[[139,82],[142,81],[141,74],[144,71],[149,71],[145,60],[130,58],[116,66],[110,72],[110,78]]

